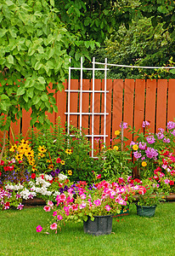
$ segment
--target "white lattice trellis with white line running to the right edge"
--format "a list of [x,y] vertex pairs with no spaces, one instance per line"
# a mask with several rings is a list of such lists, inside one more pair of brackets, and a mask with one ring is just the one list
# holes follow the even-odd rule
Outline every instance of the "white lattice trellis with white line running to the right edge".
[[[118,64],[110,64],[107,63],[107,58],[105,58],[104,63],[102,62],[96,62],[95,58],[93,57],[93,67],[89,68],[89,67],[83,67],[82,66],[82,57],[81,57],[81,67],[69,67],[69,80],[68,80],[68,90],[65,90],[68,92],[68,112],[65,113],[67,114],[67,125],[68,125],[68,134],[70,134],[70,121],[71,121],[71,115],[79,115],[80,116],[80,124],[79,124],[79,129],[80,131],[82,131],[82,115],[92,115],[92,126],[91,126],[91,134],[86,135],[87,137],[92,137],[92,157],[93,156],[93,149],[94,149],[94,137],[103,137],[104,138],[104,143],[105,143],[105,138],[108,137],[108,135],[106,134],[106,115],[108,115],[109,113],[107,113],[106,111],[106,94],[109,92],[108,90],[106,90],[106,83],[107,83],[107,70],[109,70],[108,67],[128,67],[128,68],[147,68],[147,69],[174,69],[175,67],[138,67],[138,66],[127,66],[127,65],[118,65]],[[70,59],[71,62],[71,59]],[[103,68],[98,68],[96,67],[97,65],[103,65]],[[80,70],[80,90],[71,90],[71,70]],[[83,90],[82,88],[82,79],[83,79],[83,71],[84,70],[89,70],[92,71],[93,73],[93,90]],[[95,71],[104,71],[104,90],[95,90]],[[80,95],[79,98],[79,102],[80,102],[80,108],[79,108],[79,112],[71,112],[70,109],[70,102],[71,102],[71,92],[77,92]],[[82,112],[82,94],[83,93],[92,93],[92,112]],[[96,113],[94,111],[94,106],[95,106],[95,101],[94,101],[94,96],[95,93],[104,93],[104,113]],[[104,116],[104,131],[103,134],[94,134],[94,119],[95,116],[97,115],[103,115]]]

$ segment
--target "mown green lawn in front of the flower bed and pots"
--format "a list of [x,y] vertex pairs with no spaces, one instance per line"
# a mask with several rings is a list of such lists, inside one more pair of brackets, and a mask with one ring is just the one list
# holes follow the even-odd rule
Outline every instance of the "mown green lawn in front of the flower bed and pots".
[[[89,236],[83,224],[66,224],[57,235],[36,232],[47,222],[42,207],[0,212],[0,255],[175,255],[175,202],[161,203],[154,218],[114,218],[112,234]],[[119,221],[117,221],[119,220]]]

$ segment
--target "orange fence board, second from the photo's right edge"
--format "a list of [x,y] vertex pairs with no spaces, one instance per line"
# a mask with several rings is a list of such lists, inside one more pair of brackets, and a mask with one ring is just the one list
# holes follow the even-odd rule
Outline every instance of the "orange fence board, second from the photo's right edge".
[[156,132],[159,128],[166,129],[167,121],[167,80],[157,81]]

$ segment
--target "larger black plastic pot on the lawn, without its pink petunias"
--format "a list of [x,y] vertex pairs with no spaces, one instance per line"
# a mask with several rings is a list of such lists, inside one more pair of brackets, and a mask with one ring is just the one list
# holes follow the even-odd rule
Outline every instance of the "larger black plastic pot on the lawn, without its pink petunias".
[[94,236],[109,235],[112,231],[112,215],[88,217],[83,222],[84,232]]

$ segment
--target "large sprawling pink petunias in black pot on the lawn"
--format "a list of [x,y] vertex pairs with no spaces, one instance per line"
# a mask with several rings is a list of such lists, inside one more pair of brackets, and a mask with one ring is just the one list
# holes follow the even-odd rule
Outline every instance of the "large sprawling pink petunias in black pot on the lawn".
[[[133,190],[118,183],[102,181],[90,186],[86,183],[76,183],[70,189],[58,195],[57,204],[52,201],[44,207],[46,212],[52,211],[52,224],[48,229],[55,230],[66,221],[83,221],[84,231],[95,236],[110,234],[112,230],[112,215],[121,211],[121,207],[127,207],[128,198]],[[42,227],[37,226],[37,232]]]

